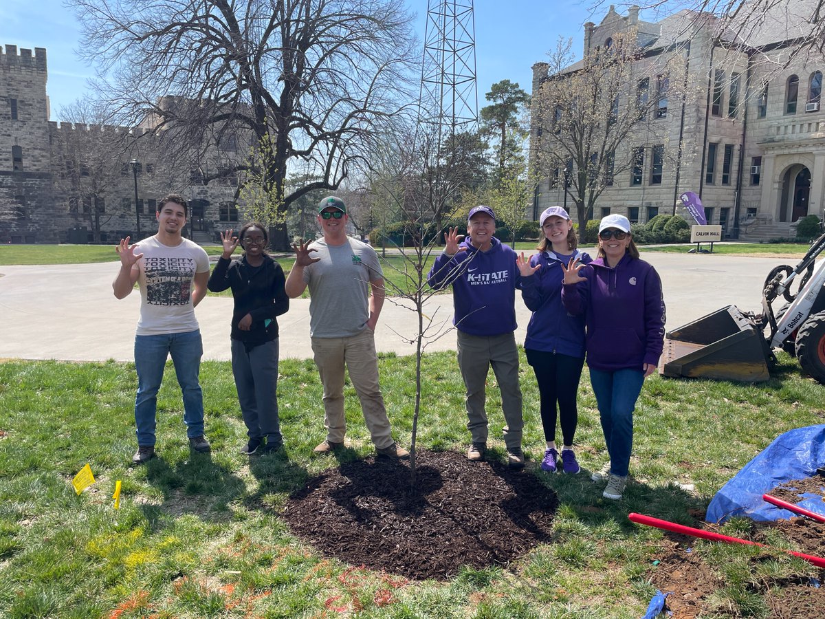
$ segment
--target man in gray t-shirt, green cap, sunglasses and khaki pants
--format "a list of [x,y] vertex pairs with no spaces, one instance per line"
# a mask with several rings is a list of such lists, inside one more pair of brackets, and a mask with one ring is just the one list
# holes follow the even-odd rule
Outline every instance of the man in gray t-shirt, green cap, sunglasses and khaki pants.
[[[300,296],[309,286],[309,335],[323,384],[327,438],[316,453],[344,444],[344,370],[361,399],[364,421],[380,456],[406,458],[390,434],[378,380],[375,324],[384,305],[384,273],[373,248],[347,236],[347,207],[335,196],[318,203],[323,239],[300,243],[295,266],[286,278],[286,294]],[[315,253],[312,257],[310,254]],[[370,290],[372,295],[370,295]]]

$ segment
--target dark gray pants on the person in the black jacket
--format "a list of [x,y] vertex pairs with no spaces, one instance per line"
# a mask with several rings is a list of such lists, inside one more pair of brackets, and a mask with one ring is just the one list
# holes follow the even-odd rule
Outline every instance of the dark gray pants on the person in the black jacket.
[[243,342],[233,339],[232,374],[249,437],[266,437],[270,444],[283,442],[276,393],[278,339],[252,347],[248,352]]

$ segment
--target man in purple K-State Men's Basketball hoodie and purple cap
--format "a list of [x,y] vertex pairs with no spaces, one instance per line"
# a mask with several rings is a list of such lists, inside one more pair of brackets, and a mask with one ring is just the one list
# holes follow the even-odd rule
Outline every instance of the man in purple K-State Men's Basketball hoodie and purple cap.
[[473,443],[467,451],[472,461],[482,461],[487,451],[488,420],[484,409],[484,385],[490,366],[502,391],[503,428],[507,465],[524,467],[521,451],[521,388],[518,381],[516,288],[521,274],[516,252],[502,244],[496,232],[496,216],[489,206],[475,206],[467,217],[469,239],[451,228],[445,235],[444,253],[432,265],[427,283],[436,290],[453,287],[458,330],[461,377],[467,390],[467,429]]

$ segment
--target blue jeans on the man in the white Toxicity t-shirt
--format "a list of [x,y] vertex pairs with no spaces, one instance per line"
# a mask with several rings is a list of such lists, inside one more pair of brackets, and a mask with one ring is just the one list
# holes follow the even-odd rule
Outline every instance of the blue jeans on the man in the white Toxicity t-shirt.
[[186,436],[200,437],[204,433],[204,401],[198,384],[200,357],[203,355],[200,330],[136,335],[134,368],[138,371],[138,395],[134,399],[134,423],[137,425],[138,445],[155,444],[155,412],[167,355],[172,355],[177,384],[181,385],[183,392]]

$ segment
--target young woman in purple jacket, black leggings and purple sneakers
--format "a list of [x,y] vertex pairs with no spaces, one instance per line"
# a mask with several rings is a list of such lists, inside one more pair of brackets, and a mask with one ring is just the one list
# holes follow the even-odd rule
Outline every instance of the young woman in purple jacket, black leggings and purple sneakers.
[[[592,258],[577,250],[576,233],[567,211],[550,206],[540,215],[543,239],[530,261],[516,259],[521,272],[521,298],[530,311],[524,343],[527,362],[535,372],[541,400],[541,425],[547,448],[541,469],[549,473],[581,470],[573,452],[578,410],[576,394],[584,366],[584,318],[568,314],[562,305],[564,267],[571,260],[589,264]],[[556,449],[556,403],[562,427],[561,461]]]

